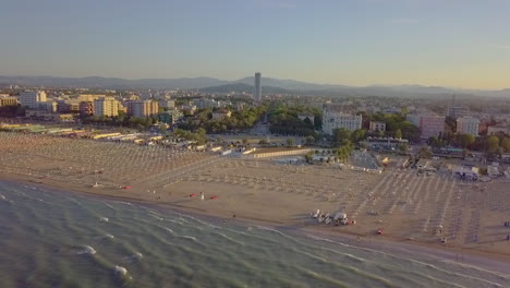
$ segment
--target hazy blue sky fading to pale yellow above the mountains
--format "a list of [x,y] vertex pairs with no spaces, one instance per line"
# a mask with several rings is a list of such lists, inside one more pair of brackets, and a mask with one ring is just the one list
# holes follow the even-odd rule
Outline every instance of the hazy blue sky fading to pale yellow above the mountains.
[[510,0],[2,0],[0,74],[510,87]]

